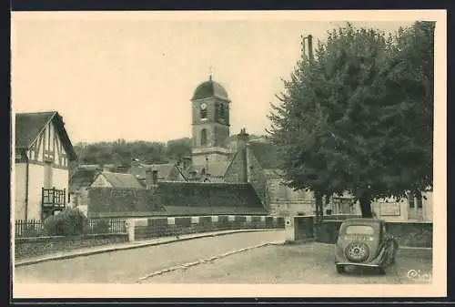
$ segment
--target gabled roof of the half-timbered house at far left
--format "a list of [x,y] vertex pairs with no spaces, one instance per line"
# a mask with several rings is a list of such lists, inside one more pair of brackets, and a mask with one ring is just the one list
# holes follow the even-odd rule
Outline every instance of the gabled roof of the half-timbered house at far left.
[[29,148],[45,125],[53,120],[56,132],[62,139],[68,159],[75,160],[76,152],[66,133],[65,123],[56,111],[37,113],[17,113],[15,115],[15,148]]

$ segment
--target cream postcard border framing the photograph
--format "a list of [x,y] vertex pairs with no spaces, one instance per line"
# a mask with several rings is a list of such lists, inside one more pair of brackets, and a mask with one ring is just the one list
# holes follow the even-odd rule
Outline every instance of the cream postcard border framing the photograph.
[[[443,297],[447,295],[447,13],[446,10],[229,11],[229,12],[12,12],[24,19],[436,21],[433,279],[428,285],[311,284],[19,284],[14,298],[177,298],[177,297]],[[14,86],[14,80],[12,80]],[[14,120],[14,119],[13,119]],[[13,121],[14,124],[14,121]],[[14,127],[14,126],[13,126]],[[14,142],[14,140],[13,140]],[[14,155],[14,144],[12,153]],[[14,156],[13,156],[14,157]],[[14,187],[14,172],[12,187]],[[14,197],[12,191],[12,197]],[[13,198],[12,198],[13,199]],[[14,211],[14,210],[12,210]],[[13,231],[14,233],[14,231]],[[14,240],[14,239],[13,239]],[[297,264],[296,264],[297,265]]]

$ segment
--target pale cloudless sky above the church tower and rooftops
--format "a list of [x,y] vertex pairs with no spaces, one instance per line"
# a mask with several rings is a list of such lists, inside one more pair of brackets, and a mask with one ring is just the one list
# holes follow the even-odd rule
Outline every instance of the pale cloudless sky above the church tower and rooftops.
[[[281,78],[288,79],[300,56],[300,36],[324,40],[343,24],[58,14],[13,15],[12,107],[58,111],[73,143],[190,137],[190,98],[210,71],[232,100],[230,133],[247,128],[262,135]],[[393,32],[410,23],[354,25]]]

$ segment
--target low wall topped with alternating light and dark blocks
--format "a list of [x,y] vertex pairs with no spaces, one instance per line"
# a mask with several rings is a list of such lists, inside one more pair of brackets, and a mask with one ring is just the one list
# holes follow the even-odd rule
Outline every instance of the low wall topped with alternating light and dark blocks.
[[145,240],[217,230],[284,229],[285,219],[270,216],[215,215],[129,219],[126,225],[129,240]]

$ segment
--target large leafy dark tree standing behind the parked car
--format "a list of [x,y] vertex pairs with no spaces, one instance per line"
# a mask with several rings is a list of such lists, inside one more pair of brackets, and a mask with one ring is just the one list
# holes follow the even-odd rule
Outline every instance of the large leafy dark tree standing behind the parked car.
[[371,217],[371,200],[432,186],[433,31],[347,24],[302,55],[269,116],[290,187],[348,191]]

